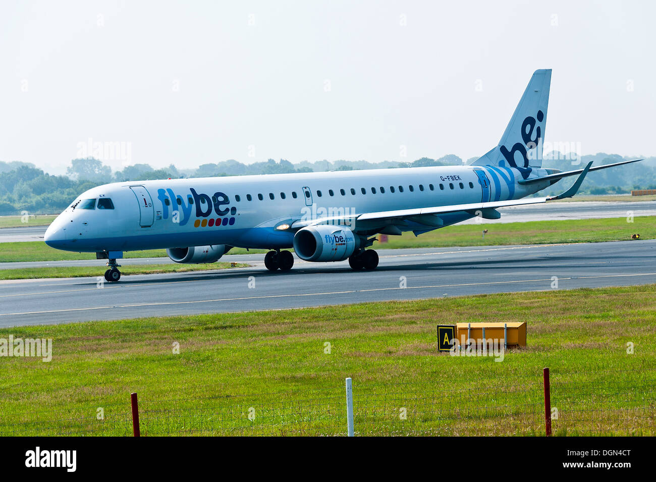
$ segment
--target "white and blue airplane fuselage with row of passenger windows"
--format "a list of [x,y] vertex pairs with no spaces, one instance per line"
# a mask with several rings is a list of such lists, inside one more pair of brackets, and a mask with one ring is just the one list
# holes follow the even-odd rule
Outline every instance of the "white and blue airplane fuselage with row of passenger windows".
[[[521,178],[508,167],[452,166],[104,184],[62,212],[45,240],[58,249],[82,252],[223,244],[289,248],[293,232],[275,229],[284,222],[520,199],[548,186],[522,186],[517,183]],[[442,217],[448,226],[472,214]],[[402,230],[424,232],[426,226],[408,223]]]

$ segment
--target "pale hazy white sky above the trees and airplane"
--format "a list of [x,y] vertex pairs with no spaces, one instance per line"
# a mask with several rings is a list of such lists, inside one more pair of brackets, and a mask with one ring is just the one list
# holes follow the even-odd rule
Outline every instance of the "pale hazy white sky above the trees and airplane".
[[655,155],[654,5],[3,0],[0,160],[466,159],[539,68],[547,142]]

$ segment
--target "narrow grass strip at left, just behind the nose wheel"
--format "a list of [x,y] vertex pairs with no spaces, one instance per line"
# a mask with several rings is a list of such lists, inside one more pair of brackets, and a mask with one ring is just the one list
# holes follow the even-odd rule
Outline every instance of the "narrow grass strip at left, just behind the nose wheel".
[[[183,273],[184,271],[213,271],[229,268],[245,268],[244,263],[230,262],[207,264],[131,264],[121,266],[123,275],[146,275],[154,273]],[[104,274],[100,266],[49,266],[47,268],[22,268],[20,270],[0,270],[0,281],[4,279],[34,279],[34,278],[75,278],[96,277]]]

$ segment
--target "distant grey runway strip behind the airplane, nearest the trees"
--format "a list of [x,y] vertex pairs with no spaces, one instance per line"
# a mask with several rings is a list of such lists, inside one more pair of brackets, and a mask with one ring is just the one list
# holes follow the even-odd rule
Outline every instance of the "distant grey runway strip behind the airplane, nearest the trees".
[[[499,208],[501,219],[484,222],[525,222],[563,219],[623,218],[628,212],[634,216],[656,216],[656,201],[577,201],[566,203],[546,203],[541,205],[513,206]],[[461,224],[479,222],[476,218]],[[0,228],[0,243],[22,241],[43,241],[47,226],[28,226],[24,228]]]

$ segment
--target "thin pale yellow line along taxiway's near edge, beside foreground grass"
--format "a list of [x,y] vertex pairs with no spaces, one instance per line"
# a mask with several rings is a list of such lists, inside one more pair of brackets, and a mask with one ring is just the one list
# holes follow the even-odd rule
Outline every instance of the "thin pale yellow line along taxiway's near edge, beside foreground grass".
[[[562,277],[559,280],[567,279],[592,279],[592,278],[607,278],[607,277],[634,277],[634,276],[650,276],[656,275],[656,273],[636,273],[636,274],[626,274],[626,275],[599,275],[599,276],[577,276],[577,277]],[[517,279],[512,281],[489,281],[487,283],[457,283],[452,285],[427,285],[427,286],[417,286],[417,287],[406,287],[406,288],[374,288],[368,290],[349,290],[349,291],[327,291],[319,293],[291,293],[291,294],[270,294],[268,296],[246,296],[243,298],[219,298],[216,300],[190,300],[190,301],[171,301],[171,302],[157,302],[157,303],[136,303],[136,304],[125,304],[117,306],[93,306],[90,308],[67,308],[64,310],[44,310],[44,311],[23,311],[18,313],[0,313],[0,316],[16,316],[16,315],[39,315],[43,313],[60,313],[66,311],[91,311],[91,310],[106,310],[111,308],[136,308],[139,306],[163,306],[163,305],[174,305],[174,304],[195,304],[195,303],[216,303],[224,301],[242,301],[242,300],[264,300],[268,298],[297,298],[300,296],[321,296],[325,294],[350,294],[358,292],[374,292],[374,291],[409,291],[409,290],[420,290],[420,289],[430,289],[430,288],[449,288],[449,287],[459,287],[459,286],[480,286],[480,285],[504,285],[509,283],[536,283],[538,281],[552,281],[549,279]]]

